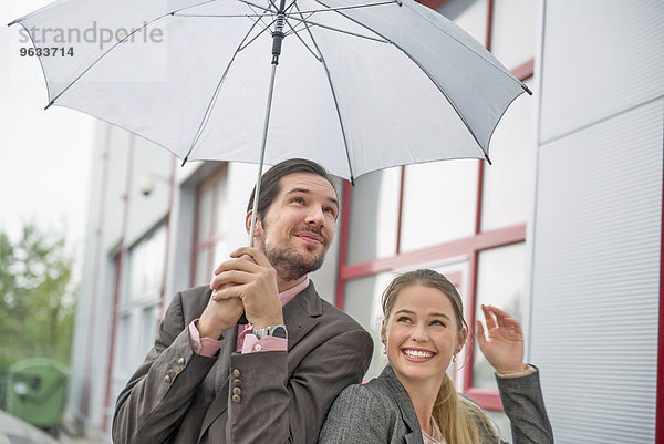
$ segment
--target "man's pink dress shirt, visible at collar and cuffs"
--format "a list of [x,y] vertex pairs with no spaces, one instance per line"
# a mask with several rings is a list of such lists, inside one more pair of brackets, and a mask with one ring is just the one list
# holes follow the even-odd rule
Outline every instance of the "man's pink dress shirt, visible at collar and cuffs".
[[[293,288],[289,288],[288,290],[280,292],[279,301],[281,302],[281,307],[290,302],[307,287],[309,287],[309,277]],[[224,339],[216,340],[212,338],[200,338],[196,322],[198,322],[198,319],[195,319],[191,321],[191,323],[189,323],[189,342],[191,343],[191,348],[198,354],[204,357],[214,357],[224,344]],[[246,327],[238,326],[238,342],[236,350],[240,350],[242,354],[261,351],[288,350],[288,339],[264,337],[263,339],[259,340],[256,334],[251,333],[251,330],[252,327],[250,323],[248,323]]]

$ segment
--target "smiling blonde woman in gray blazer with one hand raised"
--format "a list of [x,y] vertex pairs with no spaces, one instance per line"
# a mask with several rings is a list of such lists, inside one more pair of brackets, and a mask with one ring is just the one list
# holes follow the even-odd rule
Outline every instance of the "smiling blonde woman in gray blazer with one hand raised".
[[[515,444],[553,443],[539,374],[523,363],[523,335],[506,312],[483,306],[477,338],[496,370]],[[382,342],[390,364],[367,384],[351,385],[334,401],[319,443],[501,443],[481,409],[457,394],[446,370],[468,335],[461,298],[433,270],[394,279],[383,293]]]

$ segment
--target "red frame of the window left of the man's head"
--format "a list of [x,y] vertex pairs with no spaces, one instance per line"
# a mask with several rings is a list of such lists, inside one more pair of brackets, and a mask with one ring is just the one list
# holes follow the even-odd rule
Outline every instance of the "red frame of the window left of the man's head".
[[[214,245],[216,242],[218,242],[219,240],[222,240],[226,238],[226,233],[222,231],[216,231],[215,230],[215,218],[217,216],[217,205],[219,205],[219,196],[217,196],[217,185],[219,184],[219,182],[221,180],[226,180],[226,176],[228,174],[228,168],[226,166],[222,166],[218,172],[216,172],[215,174],[212,174],[210,177],[208,177],[207,179],[205,179],[199,186],[198,189],[196,190],[196,210],[195,210],[195,217],[194,217],[194,248],[191,249],[191,270],[189,273],[189,285],[190,286],[195,286],[199,282],[196,282],[196,269],[198,266],[198,254],[201,250],[206,250],[207,249],[207,264],[206,264],[206,269],[208,271],[208,275],[211,276],[212,275],[212,270],[215,268],[215,249],[214,249]],[[210,205],[210,231],[209,234],[205,234],[201,235],[200,233],[198,233],[198,223],[200,220],[200,202],[203,198],[203,195],[205,195],[209,189],[211,188],[212,190],[212,198],[211,198],[211,205]],[[200,238],[200,236],[205,236],[203,238]]]

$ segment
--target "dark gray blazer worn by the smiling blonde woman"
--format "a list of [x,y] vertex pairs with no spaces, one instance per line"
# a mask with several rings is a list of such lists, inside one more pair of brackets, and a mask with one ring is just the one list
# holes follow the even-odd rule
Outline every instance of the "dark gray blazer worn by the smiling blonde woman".
[[[552,444],[538,372],[523,378],[497,378],[515,444]],[[480,443],[496,444],[483,422]],[[423,444],[422,430],[408,393],[392,366],[367,384],[346,388],[334,401],[320,444]]]

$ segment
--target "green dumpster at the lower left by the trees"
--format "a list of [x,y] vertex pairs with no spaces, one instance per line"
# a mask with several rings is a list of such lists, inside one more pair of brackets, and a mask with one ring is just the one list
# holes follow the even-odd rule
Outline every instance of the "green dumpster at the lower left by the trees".
[[38,427],[60,424],[66,393],[66,369],[43,358],[17,362],[9,369],[7,410]]

